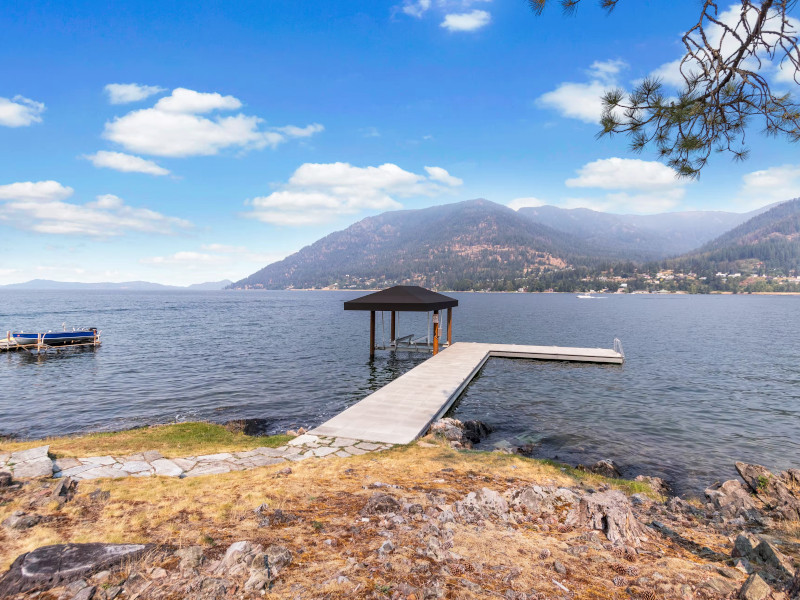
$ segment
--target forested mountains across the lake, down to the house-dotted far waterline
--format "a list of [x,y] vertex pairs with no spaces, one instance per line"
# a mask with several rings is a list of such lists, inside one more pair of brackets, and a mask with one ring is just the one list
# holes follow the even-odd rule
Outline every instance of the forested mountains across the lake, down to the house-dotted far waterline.
[[[664,252],[669,244],[678,247],[687,239],[707,235],[703,231],[747,215],[653,215],[664,222],[662,230],[656,231],[656,223],[647,219],[545,208],[549,222],[566,228],[563,219],[572,219],[569,228],[582,237],[535,222],[530,213],[526,216],[488,200],[470,200],[363,219],[231,287],[417,284],[440,290],[561,292],[791,291],[797,287],[800,199],[750,213],[755,216],[691,253],[657,260],[642,258],[644,245],[655,246],[660,239],[664,245],[658,252]],[[611,233],[603,234],[605,227]],[[669,241],[669,235],[682,241]]]

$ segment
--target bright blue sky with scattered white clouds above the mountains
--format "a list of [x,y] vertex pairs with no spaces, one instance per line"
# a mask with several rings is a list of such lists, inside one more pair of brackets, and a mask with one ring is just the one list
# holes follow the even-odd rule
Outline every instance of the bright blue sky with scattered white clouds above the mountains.
[[699,182],[595,140],[598,93],[668,83],[697,11],[0,2],[0,284],[238,279],[369,214],[476,197],[652,213],[800,195],[797,145],[757,127],[749,160],[715,156]]

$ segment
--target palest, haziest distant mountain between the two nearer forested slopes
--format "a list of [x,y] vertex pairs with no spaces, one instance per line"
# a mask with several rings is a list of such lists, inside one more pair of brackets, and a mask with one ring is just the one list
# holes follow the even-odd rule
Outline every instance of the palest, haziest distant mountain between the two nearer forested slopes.
[[617,215],[588,208],[521,208],[532,221],[571,233],[607,253],[630,260],[659,260],[699,248],[709,240],[768,210],[749,213],[685,211]]

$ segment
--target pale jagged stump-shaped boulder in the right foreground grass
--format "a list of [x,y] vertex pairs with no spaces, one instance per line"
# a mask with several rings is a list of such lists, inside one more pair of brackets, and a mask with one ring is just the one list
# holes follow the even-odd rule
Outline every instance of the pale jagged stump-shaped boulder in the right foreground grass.
[[630,500],[618,490],[586,494],[570,511],[566,524],[602,531],[613,544],[639,546],[647,539],[647,530],[633,514]]

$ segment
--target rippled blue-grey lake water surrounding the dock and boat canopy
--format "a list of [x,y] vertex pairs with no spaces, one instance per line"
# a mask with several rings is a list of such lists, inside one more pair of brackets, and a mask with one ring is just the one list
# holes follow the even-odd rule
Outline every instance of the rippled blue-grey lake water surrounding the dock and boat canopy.
[[[175,420],[314,426],[426,358],[368,357],[353,292],[0,292],[0,327],[94,326],[103,345],[0,355],[0,433],[22,437]],[[733,462],[800,466],[800,297],[459,294],[454,340],[611,347],[623,366],[493,359],[453,411],[571,464],[696,492]],[[387,315],[388,317],[388,315]],[[400,334],[424,333],[402,314]],[[380,319],[378,338],[382,337]],[[386,333],[388,336],[388,319]]]

